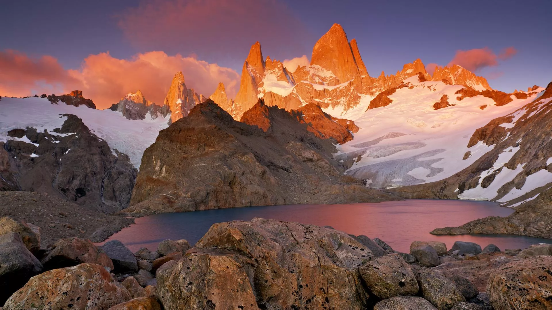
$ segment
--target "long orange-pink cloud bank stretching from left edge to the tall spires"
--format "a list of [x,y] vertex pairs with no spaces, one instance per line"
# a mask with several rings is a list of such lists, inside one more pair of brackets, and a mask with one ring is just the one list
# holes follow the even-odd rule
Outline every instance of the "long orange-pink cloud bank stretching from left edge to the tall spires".
[[0,95],[24,97],[34,94],[61,94],[83,90],[98,109],[108,108],[129,92],[140,89],[146,99],[163,103],[177,71],[182,71],[186,86],[206,97],[219,82],[233,98],[239,87],[239,74],[215,63],[181,55],[169,56],[153,51],[121,60],[101,53],[84,59],[78,70],[64,70],[51,56],[30,58],[17,51],[0,52]]

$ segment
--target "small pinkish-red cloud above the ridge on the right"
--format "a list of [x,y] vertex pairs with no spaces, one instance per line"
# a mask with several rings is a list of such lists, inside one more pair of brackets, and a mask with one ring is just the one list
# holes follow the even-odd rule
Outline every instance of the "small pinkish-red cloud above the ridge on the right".
[[470,71],[477,71],[485,67],[498,65],[497,59],[507,60],[516,54],[514,47],[507,47],[501,54],[496,55],[489,47],[468,51],[457,51],[448,66],[459,65]]

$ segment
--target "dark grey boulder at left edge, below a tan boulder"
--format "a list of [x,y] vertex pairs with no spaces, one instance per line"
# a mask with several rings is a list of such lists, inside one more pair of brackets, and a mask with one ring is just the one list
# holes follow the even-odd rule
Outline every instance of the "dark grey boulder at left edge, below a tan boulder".
[[42,264],[26,248],[19,233],[0,236],[0,304],[42,271]]

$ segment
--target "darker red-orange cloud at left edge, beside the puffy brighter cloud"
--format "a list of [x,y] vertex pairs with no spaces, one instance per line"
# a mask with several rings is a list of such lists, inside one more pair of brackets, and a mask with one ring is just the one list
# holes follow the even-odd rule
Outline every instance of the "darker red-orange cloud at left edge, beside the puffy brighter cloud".
[[62,93],[79,81],[71,77],[52,56],[32,58],[19,51],[0,51],[0,95],[25,97]]

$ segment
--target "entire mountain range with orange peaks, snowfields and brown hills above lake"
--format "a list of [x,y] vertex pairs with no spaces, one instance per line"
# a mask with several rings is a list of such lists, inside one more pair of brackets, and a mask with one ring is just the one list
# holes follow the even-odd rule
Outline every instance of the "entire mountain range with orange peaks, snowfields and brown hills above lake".
[[552,83],[504,93],[420,59],[370,76],[338,24],[310,59],[290,71],[256,42],[236,98],[222,83],[198,94],[182,72],[162,104],[140,90],[101,111],[78,90],[1,98],[0,189],[110,213],[404,197],[515,208],[552,187]]

